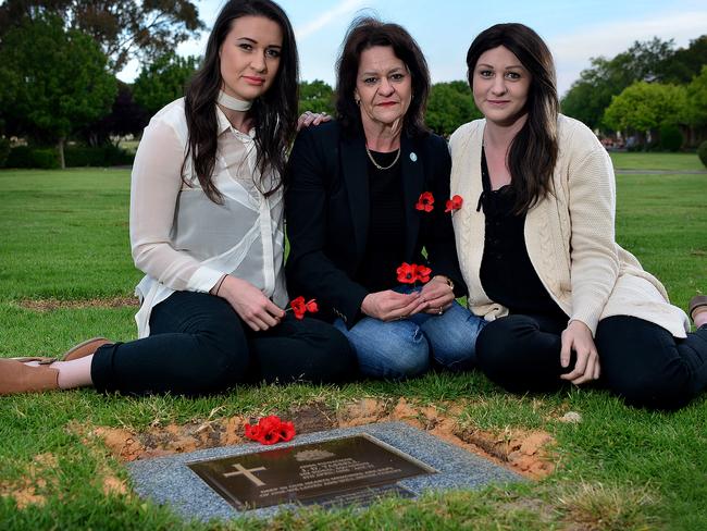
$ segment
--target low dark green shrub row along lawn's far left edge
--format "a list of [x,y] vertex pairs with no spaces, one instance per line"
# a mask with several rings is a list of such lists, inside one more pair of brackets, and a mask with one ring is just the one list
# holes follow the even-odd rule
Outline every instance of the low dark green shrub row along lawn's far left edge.
[[[134,155],[113,145],[96,148],[82,146],[64,148],[64,162],[67,168],[127,165],[133,163],[134,158]],[[0,145],[0,166],[37,168],[41,170],[52,170],[60,166],[59,152],[53,148],[17,146],[9,150],[4,164],[2,159],[2,145]]]

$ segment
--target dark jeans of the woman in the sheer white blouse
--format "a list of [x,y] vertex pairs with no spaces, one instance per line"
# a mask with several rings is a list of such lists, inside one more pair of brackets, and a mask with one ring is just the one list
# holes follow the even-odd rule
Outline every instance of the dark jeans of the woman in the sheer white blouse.
[[243,382],[336,382],[356,374],[346,337],[292,312],[253,332],[220,297],[176,292],[152,309],[150,335],[100,347],[91,365],[97,390],[131,394],[202,394]]

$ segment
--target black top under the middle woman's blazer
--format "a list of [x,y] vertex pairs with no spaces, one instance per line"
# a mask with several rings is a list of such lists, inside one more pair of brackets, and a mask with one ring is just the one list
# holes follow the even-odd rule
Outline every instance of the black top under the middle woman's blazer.
[[[371,151],[371,157],[379,165],[387,168],[398,157],[398,151]],[[399,160],[389,170],[379,170],[369,161],[369,236],[354,280],[373,293],[397,285],[396,270],[405,261],[405,206]]]

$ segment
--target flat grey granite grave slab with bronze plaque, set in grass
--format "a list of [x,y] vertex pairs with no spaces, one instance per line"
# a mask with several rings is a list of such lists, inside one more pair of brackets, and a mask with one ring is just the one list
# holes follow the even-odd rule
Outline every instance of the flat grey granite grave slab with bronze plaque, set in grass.
[[138,494],[202,520],[522,480],[401,422],[308,433],[272,447],[249,443],[158,457],[128,470]]

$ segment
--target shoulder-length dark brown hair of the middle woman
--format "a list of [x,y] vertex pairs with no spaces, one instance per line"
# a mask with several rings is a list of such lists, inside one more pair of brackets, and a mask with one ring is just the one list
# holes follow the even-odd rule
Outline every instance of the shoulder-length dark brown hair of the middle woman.
[[430,70],[422,50],[412,36],[397,24],[383,23],[370,16],[355,18],[349,26],[336,61],[336,113],[345,132],[361,131],[361,111],[354,100],[361,53],[374,46],[389,46],[405,63],[412,81],[412,100],[402,119],[402,128],[410,136],[429,132],[424,111],[430,95]]

